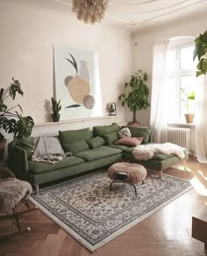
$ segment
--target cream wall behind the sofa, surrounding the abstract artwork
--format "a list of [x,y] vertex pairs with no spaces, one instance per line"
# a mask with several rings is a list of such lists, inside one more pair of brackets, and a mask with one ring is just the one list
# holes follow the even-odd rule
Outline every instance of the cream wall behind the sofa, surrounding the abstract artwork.
[[[70,6],[53,1],[0,0],[0,85],[11,84],[11,77],[20,81],[25,95],[16,101],[35,123],[50,121],[46,101],[54,95],[54,44],[97,52],[103,116],[107,115],[107,103],[118,102],[118,94],[132,72],[131,33],[106,22],[86,25],[75,17]],[[116,121],[125,121],[120,103]],[[64,128],[109,122],[110,119],[76,121],[67,127],[64,124]],[[36,131],[51,133],[51,129],[57,131],[54,127]]]

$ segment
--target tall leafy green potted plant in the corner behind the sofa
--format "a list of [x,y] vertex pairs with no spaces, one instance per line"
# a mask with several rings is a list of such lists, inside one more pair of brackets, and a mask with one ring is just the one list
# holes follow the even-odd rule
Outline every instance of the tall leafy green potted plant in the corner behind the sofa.
[[133,120],[129,123],[131,125],[138,123],[136,112],[150,106],[148,102],[149,89],[146,85],[146,81],[146,72],[143,72],[141,69],[137,70],[134,75],[131,76],[130,82],[125,83],[125,91],[118,96],[122,106],[129,107],[130,111],[133,113]]

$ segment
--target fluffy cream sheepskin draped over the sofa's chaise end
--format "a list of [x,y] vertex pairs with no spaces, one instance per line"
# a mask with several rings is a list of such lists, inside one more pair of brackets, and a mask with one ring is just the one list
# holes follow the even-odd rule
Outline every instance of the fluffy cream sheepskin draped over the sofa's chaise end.
[[132,155],[137,160],[148,160],[152,159],[155,153],[163,153],[163,154],[175,154],[177,157],[181,159],[185,157],[184,149],[173,143],[161,143],[161,144],[147,144],[147,145],[139,145],[133,149]]

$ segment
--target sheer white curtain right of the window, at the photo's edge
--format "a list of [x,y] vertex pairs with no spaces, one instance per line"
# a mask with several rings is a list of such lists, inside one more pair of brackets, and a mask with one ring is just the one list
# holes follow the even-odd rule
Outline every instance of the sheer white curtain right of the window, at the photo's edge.
[[205,101],[207,92],[207,76],[196,78],[196,157],[200,163],[207,163],[205,143],[207,143],[206,135],[206,113]]

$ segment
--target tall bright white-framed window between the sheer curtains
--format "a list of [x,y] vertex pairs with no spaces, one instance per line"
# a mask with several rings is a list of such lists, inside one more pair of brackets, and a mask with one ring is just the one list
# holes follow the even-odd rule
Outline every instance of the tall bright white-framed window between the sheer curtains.
[[184,113],[194,113],[195,100],[187,96],[195,92],[196,65],[193,62],[194,43],[170,48],[168,54],[168,120],[183,121]]

